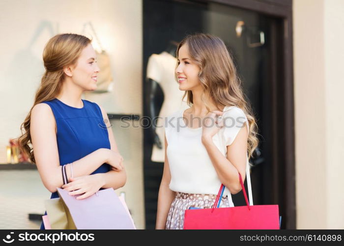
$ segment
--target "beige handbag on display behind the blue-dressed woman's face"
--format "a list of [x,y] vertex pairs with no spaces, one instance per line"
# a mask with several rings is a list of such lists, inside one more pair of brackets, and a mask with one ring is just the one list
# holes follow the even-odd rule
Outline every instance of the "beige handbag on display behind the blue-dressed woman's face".
[[89,26],[91,31],[93,32],[93,36],[100,48],[100,52],[95,49],[97,55],[97,64],[100,68],[100,71],[97,75],[97,89],[92,92],[87,93],[104,93],[104,92],[111,92],[113,88],[113,76],[111,72],[111,65],[110,65],[110,56],[109,54],[103,49],[102,44],[93,28],[91,22],[87,22],[84,24],[83,34],[86,31],[86,27]]

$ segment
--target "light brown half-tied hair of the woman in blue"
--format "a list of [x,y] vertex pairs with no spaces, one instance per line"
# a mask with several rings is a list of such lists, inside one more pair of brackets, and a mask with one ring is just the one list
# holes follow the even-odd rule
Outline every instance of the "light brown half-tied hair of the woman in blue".
[[30,118],[32,108],[43,101],[54,99],[62,88],[65,79],[63,67],[76,66],[82,50],[91,43],[86,36],[74,33],[62,33],[49,39],[43,50],[43,63],[45,72],[41,84],[36,92],[34,103],[28,116],[21,125],[22,135],[18,137],[19,148],[29,156],[31,162],[35,163],[33,155]]

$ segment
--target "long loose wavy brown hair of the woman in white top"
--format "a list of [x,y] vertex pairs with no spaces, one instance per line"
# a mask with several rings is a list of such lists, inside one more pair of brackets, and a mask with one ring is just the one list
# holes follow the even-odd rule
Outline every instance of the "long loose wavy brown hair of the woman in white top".
[[[191,60],[200,68],[198,77],[203,91],[202,101],[207,110],[210,111],[207,105],[212,101],[219,110],[225,106],[236,106],[244,111],[249,123],[247,152],[250,158],[258,146],[258,126],[225,43],[221,38],[210,34],[188,35],[177,46],[177,59],[183,45],[187,45]],[[185,96],[188,105],[192,106],[192,91],[186,91],[183,99]]]

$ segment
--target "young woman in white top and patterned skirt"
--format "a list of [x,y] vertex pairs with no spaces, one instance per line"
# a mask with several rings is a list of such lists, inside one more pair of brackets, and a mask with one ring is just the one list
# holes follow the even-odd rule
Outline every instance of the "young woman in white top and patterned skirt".
[[185,210],[211,208],[221,184],[227,189],[220,207],[233,206],[238,172],[245,180],[258,146],[257,124],[224,42],[189,35],[176,55],[175,77],[190,108],[165,121],[156,229],[183,229]]

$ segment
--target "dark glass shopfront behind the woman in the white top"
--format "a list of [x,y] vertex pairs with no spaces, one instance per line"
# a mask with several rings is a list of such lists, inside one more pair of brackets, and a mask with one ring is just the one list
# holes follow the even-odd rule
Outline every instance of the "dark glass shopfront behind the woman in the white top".
[[[186,34],[205,32],[219,36],[226,43],[258,122],[259,146],[250,160],[254,204],[280,204],[283,173],[279,172],[274,138],[274,85],[280,76],[278,56],[280,42],[278,19],[254,11],[213,2],[143,1],[143,71],[148,57],[161,53],[170,40],[180,41]],[[278,62],[278,61],[277,61]],[[145,77],[145,73],[143,74]],[[144,81],[144,80],[143,80]],[[143,83],[143,91],[145,89]],[[162,95],[163,98],[163,95]],[[145,99],[143,99],[145,101]],[[144,106],[145,114],[147,105]],[[157,194],[163,163],[150,161],[151,139],[144,132],[144,180],[146,228],[154,228]],[[246,184],[246,182],[245,182]],[[233,195],[236,206],[244,205],[242,192]],[[283,205],[280,214],[284,217]]]

